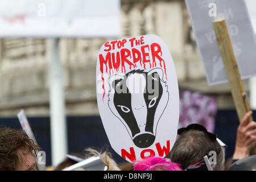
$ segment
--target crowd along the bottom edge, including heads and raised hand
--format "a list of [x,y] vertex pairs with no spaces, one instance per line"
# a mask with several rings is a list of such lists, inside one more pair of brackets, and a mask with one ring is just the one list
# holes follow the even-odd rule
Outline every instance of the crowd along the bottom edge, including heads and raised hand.
[[[225,162],[225,145],[221,144],[216,135],[209,133],[204,126],[199,124],[179,129],[177,131],[179,136],[170,154],[164,158],[150,157],[133,163],[117,164],[109,152],[97,151],[92,148],[86,149],[88,154],[86,156],[76,154],[73,156],[77,156],[81,160],[100,156],[102,163],[108,167],[109,171],[203,171],[209,170],[205,167],[204,157],[210,158],[209,152],[214,151],[216,162],[212,163],[210,168],[222,171],[228,169],[237,160],[243,160],[250,156],[250,151],[256,144],[256,123],[249,122],[252,114],[252,111],[249,111],[238,126],[232,162]],[[36,154],[39,150],[40,147],[22,129],[0,127],[0,171],[36,170]],[[256,155],[251,157],[253,159],[246,161],[255,162]],[[52,170],[60,171],[77,163],[79,161],[67,157]],[[239,169],[241,170],[241,168]],[[86,170],[86,168],[79,167],[75,170]]]

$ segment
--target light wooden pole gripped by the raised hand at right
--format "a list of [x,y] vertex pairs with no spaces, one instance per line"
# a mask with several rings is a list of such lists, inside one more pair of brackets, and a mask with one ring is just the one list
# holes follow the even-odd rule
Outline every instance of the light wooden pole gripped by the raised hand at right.
[[[229,80],[231,93],[236,106],[237,115],[240,123],[243,116],[250,111],[249,103],[245,94],[245,89],[241,81],[240,73],[237,68],[236,57],[234,56],[232,43],[229,38],[228,28],[224,19],[213,22],[213,28],[216,34],[218,47],[220,48],[222,60],[226,70],[226,76]],[[253,117],[249,118],[249,122]],[[256,146],[251,150],[251,154],[256,154]]]

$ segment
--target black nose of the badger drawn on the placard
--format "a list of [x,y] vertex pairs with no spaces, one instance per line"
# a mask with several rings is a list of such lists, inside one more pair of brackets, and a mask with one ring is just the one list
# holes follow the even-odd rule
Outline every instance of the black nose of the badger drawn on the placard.
[[133,139],[135,146],[139,148],[147,148],[155,142],[155,135],[152,134],[141,134]]

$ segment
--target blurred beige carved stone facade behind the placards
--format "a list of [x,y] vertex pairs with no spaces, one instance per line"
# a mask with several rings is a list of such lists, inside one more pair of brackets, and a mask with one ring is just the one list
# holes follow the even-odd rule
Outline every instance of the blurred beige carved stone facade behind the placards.
[[[227,84],[209,87],[196,48],[185,2],[122,1],[121,38],[156,34],[174,59],[180,88],[228,98],[220,108],[233,107]],[[67,115],[97,115],[96,60],[103,43],[112,39],[60,39]],[[0,40],[0,117],[49,115],[49,79],[44,39]],[[247,83],[245,83],[247,89]],[[225,97],[224,97],[225,96]]]

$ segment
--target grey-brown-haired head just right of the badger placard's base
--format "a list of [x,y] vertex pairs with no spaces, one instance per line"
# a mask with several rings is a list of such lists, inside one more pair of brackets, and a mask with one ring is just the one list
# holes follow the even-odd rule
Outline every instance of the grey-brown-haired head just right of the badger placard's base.
[[186,169],[191,164],[203,159],[205,155],[209,158],[212,155],[209,152],[214,151],[216,152],[216,164],[214,164],[213,169],[216,171],[224,170],[225,148],[217,142],[216,135],[209,133],[206,129],[188,128],[183,129],[182,132],[178,131],[180,137],[174,143],[168,158],[172,162],[181,164],[182,169]]

